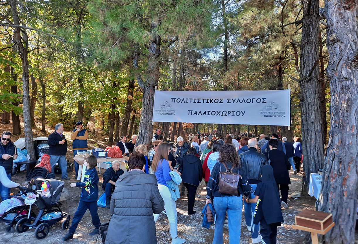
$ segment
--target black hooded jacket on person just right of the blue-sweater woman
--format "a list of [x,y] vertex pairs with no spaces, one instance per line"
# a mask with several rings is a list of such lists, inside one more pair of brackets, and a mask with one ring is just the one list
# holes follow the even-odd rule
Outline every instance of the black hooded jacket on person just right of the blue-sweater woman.
[[193,155],[187,154],[183,157],[183,160],[179,163],[178,171],[182,174],[182,180],[184,183],[190,185],[199,186],[202,180],[203,168],[200,159]]

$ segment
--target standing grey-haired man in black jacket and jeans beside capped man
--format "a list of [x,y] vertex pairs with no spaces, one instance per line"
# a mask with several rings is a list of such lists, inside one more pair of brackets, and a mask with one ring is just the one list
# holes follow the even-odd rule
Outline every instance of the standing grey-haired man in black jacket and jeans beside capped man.
[[67,175],[67,140],[63,134],[63,124],[56,124],[55,131],[48,136],[47,143],[50,148],[48,154],[50,155],[50,164],[52,172],[49,174],[49,178],[55,178],[55,164],[61,167],[63,180],[69,180]]

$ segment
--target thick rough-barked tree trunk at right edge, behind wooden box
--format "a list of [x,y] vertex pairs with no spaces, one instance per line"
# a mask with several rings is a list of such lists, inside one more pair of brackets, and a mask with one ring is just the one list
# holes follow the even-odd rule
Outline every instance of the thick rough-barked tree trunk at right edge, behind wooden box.
[[324,244],[354,243],[358,195],[357,1],[325,1],[329,63],[330,130],[318,210],[335,226]]

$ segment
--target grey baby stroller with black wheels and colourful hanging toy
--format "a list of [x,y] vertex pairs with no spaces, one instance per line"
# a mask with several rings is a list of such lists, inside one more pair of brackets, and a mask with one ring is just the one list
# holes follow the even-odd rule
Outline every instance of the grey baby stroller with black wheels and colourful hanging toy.
[[36,200],[33,204],[39,208],[39,211],[36,215],[29,214],[27,217],[20,219],[15,225],[16,231],[23,233],[28,229],[36,228],[35,237],[42,239],[48,235],[50,226],[58,223],[64,217],[66,219],[62,223],[62,229],[66,230],[71,216],[60,209],[61,202],[58,202],[64,182],[55,179],[37,178],[35,185]]

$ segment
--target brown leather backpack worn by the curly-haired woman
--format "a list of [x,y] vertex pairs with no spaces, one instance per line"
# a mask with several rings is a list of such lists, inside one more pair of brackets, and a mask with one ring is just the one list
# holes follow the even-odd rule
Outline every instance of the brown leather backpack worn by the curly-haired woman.
[[238,196],[237,186],[239,184],[240,174],[232,172],[235,166],[228,169],[225,164],[223,165],[226,171],[219,172],[219,193]]

